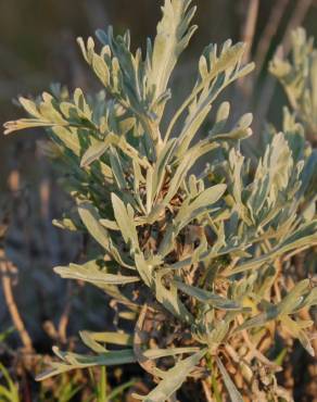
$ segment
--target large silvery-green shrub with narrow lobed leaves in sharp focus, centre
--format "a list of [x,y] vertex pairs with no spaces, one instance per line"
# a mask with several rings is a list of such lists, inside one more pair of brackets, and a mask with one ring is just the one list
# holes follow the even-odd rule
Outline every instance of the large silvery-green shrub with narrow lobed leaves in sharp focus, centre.
[[[294,282],[292,257],[317,244],[316,152],[288,111],[283,133],[269,130],[256,163],[240,151],[251,114],[231,125],[223,102],[204,133],[218,95],[253,68],[241,65],[244,45],[230,40],[205,48],[191,93],[164,120],[194,10],[190,0],[165,0],[144,56],[131,52],[128,32],[99,30],[100,51],[92,38],[79,38],[104,90],[91,97],[54,86],[35,101],[20,98],[30,118],[5,124],[7,134],[48,128],[51,156],[76,202],[55,224],[100,246],[88,262],[55,272],[103,289],[119,317],[117,331],[80,334],[93,355],[54,348],[60,360],[38,379],[138,362],[158,382],[137,397],[143,401],[174,398],[188,377],[234,401],[290,400],[275,377],[281,367],[268,356],[278,356],[277,337],[297,339],[314,354],[313,322],[302,313],[317,304],[316,287]],[[124,319],[135,329],[121,329]]]

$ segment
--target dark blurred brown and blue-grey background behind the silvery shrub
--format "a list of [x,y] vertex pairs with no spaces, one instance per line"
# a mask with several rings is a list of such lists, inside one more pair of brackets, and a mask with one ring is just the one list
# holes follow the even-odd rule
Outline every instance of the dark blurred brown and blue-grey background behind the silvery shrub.
[[[255,61],[256,68],[251,77],[230,89],[233,110],[238,114],[254,112],[255,135],[265,121],[279,126],[280,104],[287,100],[267,74],[267,65],[279,45],[283,43],[288,52],[294,27],[302,25],[308,35],[317,37],[317,1],[194,2],[199,30],[181,56],[172,84],[176,99],[193,81],[198,56],[206,45],[220,45],[228,38],[244,40],[250,45],[245,61]],[[134,48],[143,48],[145,38],[155,34],[161,4],[156,0],[0,0],[1,126],[23,115],[14,101],[20,95],[35,96],[48,90],[52,83],[66,85],[71,90],[101,89],[81,58],[76,37],[87,38],[97,28],[111,24],[118,33],[129,28]],[[56,340],[66,342],[66,335],[69,339],[79,329],[102,329],[104,322],[111,319],[102,294],[73,287],[52,272],[52,266],[76,261],[85,239],[51,225],[71,201],[59,187],[56,172],[39,150],[38,140],[43,138],[40,130],[0,135],[0,228],[1,219],[5,224],[10,221],[5,247],[18,267],[12,269],[10,289],[38,353],[49,352]],[[0,332],[12,326],[2,289],[5,287],[0,288]],[[86,309],[81,309],[83,303]],[[16,332],[10,335],[10,344],[13,349],[21,346]],[[4,354],[0,350],[0,360]]]

